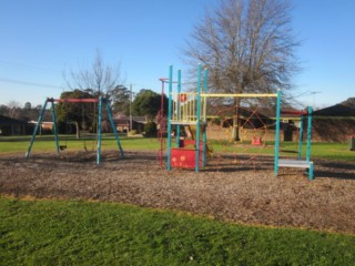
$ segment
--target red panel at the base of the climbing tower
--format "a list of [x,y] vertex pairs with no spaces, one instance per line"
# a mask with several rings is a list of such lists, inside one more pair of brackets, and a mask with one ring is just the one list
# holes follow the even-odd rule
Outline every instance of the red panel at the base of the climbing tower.
[[[189,149],[171,149],[171,166],[179,168],[195,168],[196,151]],[[202,154],[200,154],[202,166]]]

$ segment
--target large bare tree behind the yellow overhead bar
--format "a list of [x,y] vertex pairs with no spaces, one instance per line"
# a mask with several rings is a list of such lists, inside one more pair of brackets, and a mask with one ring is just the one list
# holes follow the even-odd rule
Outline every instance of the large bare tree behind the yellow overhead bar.
[[[221,0],[205,13],[184,49],[187,63],[210,70],[210,90],[286,94],[298,70],[288,0]],[[236,120],[241,100],[236,106]],[[234,124],[235,125],[235,124]],[[236,129],[237,126],[233,126]],[[239,139],[237,130],[233,137]]]

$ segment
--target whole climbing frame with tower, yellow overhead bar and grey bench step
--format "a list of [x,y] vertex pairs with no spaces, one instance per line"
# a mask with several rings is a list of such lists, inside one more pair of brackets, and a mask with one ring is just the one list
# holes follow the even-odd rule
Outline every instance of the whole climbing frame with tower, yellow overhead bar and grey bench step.
[[[196,89],[194,92],[182,91],[181,70],[178,70],[178,81],[173,81],[173,66],[169,69],[169,78],[163,81],[169,84],[169,110],[168,110],[168,143],[166,143],[166,168],[171,171],[172,167],[178,168],[194,168],[199,172],[206,166],[209,154],[212,153],[207,145],[207,99],[267,99],[275,102],[274,113],[275,117],[272,126],[275,130],[274,137],[274,172],[278,175],[280,167],[301,167],[305,168],[308,178],[313,180],[313,162],[311,162],[311,129],[312,129],[312,108],[301,115],[301,129],[298,141],[297,158],[281,158],[280,143],[281,143],[281,91],[276,93],[207,93],[209,71],[205,69],[202,74],[202,68],[197,69]],[[173,85],[176,84],[176,90]],[[251,123],[253,115],[258,116],[260,121],[263,119],[254,111],[245,115],[245,124]],[[307,149],[306,158],[302,160],[303,145],[303,121],[307,120]],[[261,122],[261,129],[265,130],[266,123]],[[190,140],[182,137],[182,133],[190,136]],[[176,143],[173,145],[173,137]],[[251,140],[251,145],[262,145],[262,136],[254,136]]]

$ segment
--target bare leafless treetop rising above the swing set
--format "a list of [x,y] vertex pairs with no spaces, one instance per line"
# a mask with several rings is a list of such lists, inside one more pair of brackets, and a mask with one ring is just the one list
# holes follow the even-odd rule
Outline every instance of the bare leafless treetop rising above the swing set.
[[121,71],[120,65],[105,64],[103,57],[97,50],[95,59],[91,66],[82,68],[78,71],[70,70],[64,72],[64,80],[67,85],[71,89],[92,90],[94,96],[104,95],[109,93],[120,81]]

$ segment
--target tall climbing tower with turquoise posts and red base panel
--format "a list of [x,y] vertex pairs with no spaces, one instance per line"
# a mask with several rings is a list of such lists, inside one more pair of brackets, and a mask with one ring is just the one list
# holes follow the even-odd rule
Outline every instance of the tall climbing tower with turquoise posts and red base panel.
[[[207,90],[207,70],[204,70],[204,93]],[[206,165],[206,99],[202,100],[202,70],[199,65],[197,92],[182,93],[181,70],[178,71],[178,92],[173,93],[173,66],[169,71],[169,109],[168,109],[168,144],[166,168],[195,168]],[[172,130],[172,126],[175,130]],[[191,140],[181,139],[182,129],[186,129]],[[176,139],[176,147],[172,146],[172,136]]]

